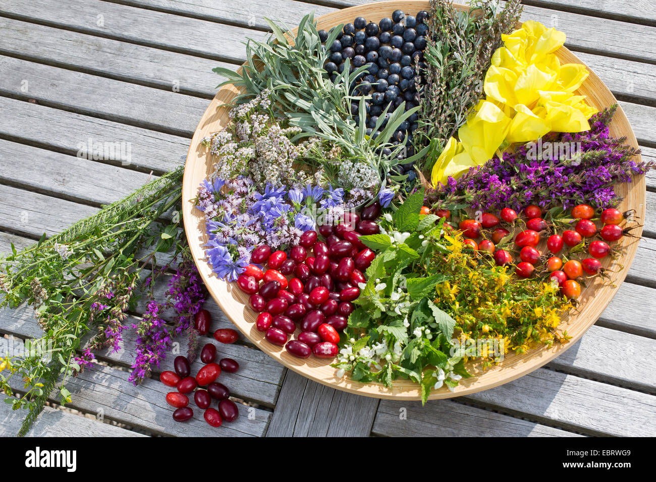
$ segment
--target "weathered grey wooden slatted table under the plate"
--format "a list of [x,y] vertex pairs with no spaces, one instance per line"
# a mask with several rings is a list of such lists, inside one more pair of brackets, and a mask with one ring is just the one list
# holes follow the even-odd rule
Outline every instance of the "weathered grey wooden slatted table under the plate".
[[[222,80],[211,68],[241,64],[241,41],[266,35],[264,16],[293,25],[311,10],[367,1],[3,0],[0,252],[56,233],[150,172],[183,163]],[[655,11],[627,0],[525,3],[524,18],[567,33],[565,45],[619,99],[644,158],[656,160]],[[129,142],[130,162],[77,157],[89,140]],[[647,175],[647,212],[636,260],[596,325],[546,367],[499,388],[425,407],[379,401],[306,380],[244,339],[219,348],[241,363],[239,373],[225,374],[247,404],[239,419],[218,429],[198,417],[176,424],[156,378],[138,388],[127,382],[134,334],[126,331],[125,349],[98,353],[102,365],[69,382],[73,410],[47,408],[30,435],[653,435],[655,172]],[[230,326],[213,302],[206,307],[215,324]],[[39,328],[28,310],[0,311],[0,334],[1,346]],[[162,369],[170,367],[169,359]],[[0,435],[14,435],[23,415],[0,403]]]

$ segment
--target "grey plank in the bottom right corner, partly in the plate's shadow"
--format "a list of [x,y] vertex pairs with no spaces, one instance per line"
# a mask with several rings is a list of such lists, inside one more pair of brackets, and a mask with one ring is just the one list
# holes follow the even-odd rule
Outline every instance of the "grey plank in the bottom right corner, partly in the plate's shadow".
[[656,419],[653,395],[547,369],[462,399],[588,435],[651,436]]

